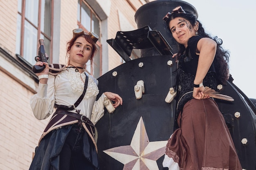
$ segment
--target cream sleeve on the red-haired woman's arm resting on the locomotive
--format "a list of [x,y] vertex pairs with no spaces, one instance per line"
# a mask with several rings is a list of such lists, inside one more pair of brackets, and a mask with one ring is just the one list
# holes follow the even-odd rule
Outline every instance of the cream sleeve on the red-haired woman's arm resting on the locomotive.
[[97,101],[94,102],[94,106],[92,108],[92,116],[91,116],[91,121],[95,125],[101,117],[104,115],[104,98],[106,95],[102,93],[101,97]]

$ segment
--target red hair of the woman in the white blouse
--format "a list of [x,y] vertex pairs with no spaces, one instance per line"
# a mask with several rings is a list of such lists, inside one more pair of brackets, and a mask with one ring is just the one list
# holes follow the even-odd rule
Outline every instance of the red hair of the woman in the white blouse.
[[[87,34],[80,34],[80,35],[74,36],[69,42],[67,42],[67,53],[68,53],[68,51],[70,51],[71,47],[74,45],[74,42],[75,42],[76,39],[79,38],[79,37],[85,38],[86,41],[88,41],[90,44],[92,44],[92,55],[91,55],[91,57],[90,57],[91,66],[92,66],[94,55],[95,55],[95,53],[98,51],[98,49],[97,49],[97,46],[96,46],[96,44],[94,43],[94,41],[92,40],[92,38],[91,38],[90,35],[87,35]],[[66,53],[66,56],[67,56],[67,53]],[[69,64],[69,62],[70,62],[70,58],[68,59],[67,65]],[[86,68],[86,64],[85,64],[84,68]]]

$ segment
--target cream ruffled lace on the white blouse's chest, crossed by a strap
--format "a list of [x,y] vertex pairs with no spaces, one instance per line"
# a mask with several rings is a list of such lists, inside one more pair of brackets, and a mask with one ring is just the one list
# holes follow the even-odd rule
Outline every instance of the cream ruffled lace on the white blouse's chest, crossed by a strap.
[[[86,77],[85,73],[79,73],[79,72],[75,72],[75,71],[67,71],[67,77],[68,77],[68,80],[70,82],[70,86],[72,88],[72,91],[83,93],[84,81],[85,81],[85,77]],[[83,81],[82,81],[81,78],[83,79]],[[99,88],[95,84],[92,77],[89,76],[88,88],[87,88],[87,91],[85,93],[85,97],[88,99],[92,96],[97,96],[98,94],[99,94]]]

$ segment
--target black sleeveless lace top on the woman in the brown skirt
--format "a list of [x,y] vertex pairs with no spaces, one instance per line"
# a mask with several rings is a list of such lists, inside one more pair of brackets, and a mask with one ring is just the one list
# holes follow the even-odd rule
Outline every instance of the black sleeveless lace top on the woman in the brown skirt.
[[[198,67],[199,55],[196,54],[198,41],[203,38],[202,36],[193,36],[188,41],[188,46],[183,55],[180,56],[178,61],[178,102],[177,113],[179,113],[184,104],[190,99],[193,99],[193,83],[195,73]],[[215,60],[215,59],[214,59]],[[208,86],[214,90],[217,88],[216,71],[214,61],[209,68],[207,75],[203,80],[204,86]]]

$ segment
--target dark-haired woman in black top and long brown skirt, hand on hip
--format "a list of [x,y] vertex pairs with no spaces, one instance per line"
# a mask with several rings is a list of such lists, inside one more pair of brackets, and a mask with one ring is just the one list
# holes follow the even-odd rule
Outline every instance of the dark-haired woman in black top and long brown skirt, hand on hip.
[[181,6],[163,18],[177,41],[178,102],[176,130],[166,146],[163,166],[169,170],[241,170],[241,165],[213,98],[203,93],[217,90],[229,78],[229,53],[222,40],[211,38],[193,14]]

